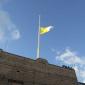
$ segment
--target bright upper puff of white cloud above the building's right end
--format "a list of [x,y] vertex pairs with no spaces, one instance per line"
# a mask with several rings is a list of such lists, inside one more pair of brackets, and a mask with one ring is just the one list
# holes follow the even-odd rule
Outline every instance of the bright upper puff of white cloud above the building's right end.
[[72,52],[69,49],[66,49],[63,53],[60,53],[59,55],[57,55],[56,58],[60,59],[66,64],[83,63],[80,57],[78,57],[75,52]]

